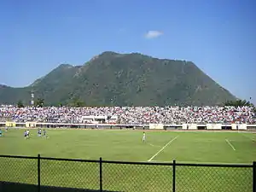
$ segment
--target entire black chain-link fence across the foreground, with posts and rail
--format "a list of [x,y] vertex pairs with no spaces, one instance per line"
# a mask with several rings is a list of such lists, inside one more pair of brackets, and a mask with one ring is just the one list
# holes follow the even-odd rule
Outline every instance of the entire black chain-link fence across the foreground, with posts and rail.
[[253,165],[70,160],[0,155],[0,191],[256,192]]

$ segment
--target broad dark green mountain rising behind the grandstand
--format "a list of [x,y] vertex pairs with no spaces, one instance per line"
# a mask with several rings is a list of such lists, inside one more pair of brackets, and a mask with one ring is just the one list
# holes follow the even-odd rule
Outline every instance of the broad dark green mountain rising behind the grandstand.
[[24,88],[0,86],[0,103],[27,104],[31,90],[48,105],[74,98],[89,106],[201,106],[236,99],[193,62],[110,51],[82,66],[61,64]]

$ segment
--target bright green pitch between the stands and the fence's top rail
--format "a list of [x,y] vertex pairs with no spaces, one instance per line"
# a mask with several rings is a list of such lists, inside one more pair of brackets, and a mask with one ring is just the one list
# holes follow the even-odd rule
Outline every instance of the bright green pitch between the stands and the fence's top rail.
[[0,154],[86,160],[252,163],[256,134],[211,131],[47,130],[48,138],[23,137],[24,130],[3,131]]

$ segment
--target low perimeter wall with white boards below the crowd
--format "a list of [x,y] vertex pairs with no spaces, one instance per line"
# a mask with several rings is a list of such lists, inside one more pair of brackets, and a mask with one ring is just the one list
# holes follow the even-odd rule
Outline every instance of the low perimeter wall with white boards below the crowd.
[[117,124],[65,124],[65,123],[39,123],[39,122],[0,122],[0,127],[24,128],[84,128],[84,129],[140,129],[140,130],[234,130],[256,131],[256,125],[247,124],[180,124],[180,125],[117,125]]

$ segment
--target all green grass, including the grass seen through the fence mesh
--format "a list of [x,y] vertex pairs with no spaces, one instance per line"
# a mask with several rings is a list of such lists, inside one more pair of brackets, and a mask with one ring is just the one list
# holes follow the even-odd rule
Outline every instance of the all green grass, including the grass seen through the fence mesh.
[[[252,164],[256,134],[207,131],[47,130],[48,138],[3,131],[0,154],[188,163]],[[42,185],[98,189],[97,163],[41,160]],[[103,164],[103,189],[170,191],[172,166]],[[37,183],[37,160],[0,158],[0,181]],[[252,191],[252,168],[177,166],[177,191]]]

